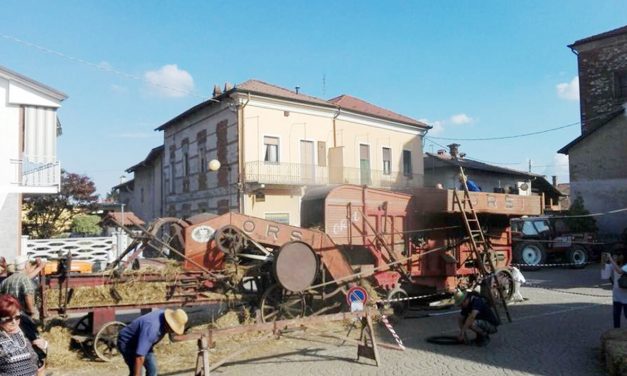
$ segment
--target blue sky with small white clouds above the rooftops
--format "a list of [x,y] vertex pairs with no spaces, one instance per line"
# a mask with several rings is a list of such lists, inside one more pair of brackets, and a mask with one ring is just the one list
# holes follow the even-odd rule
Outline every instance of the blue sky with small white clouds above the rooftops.
[[[92,177],[101,194],[162,143],[154,128],[225,81],[299,85],[326,99],[350,94],[427,120],[435,129],[425,151],[451,142],[435,137],[571,124],[579,121],[577,59],[566,46],[627,19],[627,2],[572,0],[5,0],[2,7],[0,65],[69,95],[59,111],[59,159]],[[532,171],[566,181],[567,161],[556,151],[579,132],[576,125],[459,143],[470,158],[522,170],[531,159]]]

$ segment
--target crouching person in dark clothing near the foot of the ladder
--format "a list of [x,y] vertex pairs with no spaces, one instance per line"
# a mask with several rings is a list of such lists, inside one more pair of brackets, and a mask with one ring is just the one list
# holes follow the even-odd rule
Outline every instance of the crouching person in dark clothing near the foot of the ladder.
[[497,332],[499,320],[485,299],[477,292],[455,292],[455,304],[461,307],[458,320],[460,342],[467,342],[466,332],[470,329],[477,334],[475,344],[486,346],[490,342],[490,334]]

